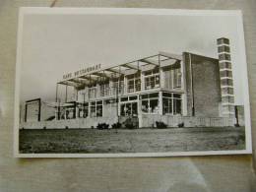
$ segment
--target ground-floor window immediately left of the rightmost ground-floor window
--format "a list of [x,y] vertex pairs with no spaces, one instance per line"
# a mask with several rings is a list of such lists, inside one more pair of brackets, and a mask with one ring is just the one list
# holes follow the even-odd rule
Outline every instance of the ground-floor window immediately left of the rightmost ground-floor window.
[[159,94],[142,95],[142,112],[159,113]]

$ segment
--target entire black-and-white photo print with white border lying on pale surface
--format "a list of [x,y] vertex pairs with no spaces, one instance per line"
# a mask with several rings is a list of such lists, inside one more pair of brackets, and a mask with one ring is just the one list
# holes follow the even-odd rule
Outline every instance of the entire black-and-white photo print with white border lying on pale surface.
[[18,158],[251,154],[240,11],[21,8]]

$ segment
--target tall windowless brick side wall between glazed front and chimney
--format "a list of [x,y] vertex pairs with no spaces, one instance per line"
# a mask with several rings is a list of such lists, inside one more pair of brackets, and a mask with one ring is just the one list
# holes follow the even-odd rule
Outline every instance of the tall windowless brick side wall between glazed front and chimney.
[[[190,55],[189,55],[190,54]],[[183,53],[188,116],[219,117],[221,83],[218,59]],[[190,65],[191,60],[191,65]]]

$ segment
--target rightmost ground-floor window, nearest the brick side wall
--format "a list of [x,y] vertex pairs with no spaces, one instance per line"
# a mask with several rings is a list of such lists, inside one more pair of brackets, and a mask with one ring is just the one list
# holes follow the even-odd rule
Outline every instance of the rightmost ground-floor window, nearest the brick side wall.
[[162,93],[162,113],[181,114],[182,100],[180,94]]

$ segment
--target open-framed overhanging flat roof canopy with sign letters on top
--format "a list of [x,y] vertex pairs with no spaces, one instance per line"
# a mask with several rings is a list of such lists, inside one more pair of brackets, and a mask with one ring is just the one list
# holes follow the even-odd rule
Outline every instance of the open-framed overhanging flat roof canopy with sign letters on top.
[[[160,66],[161,63],[164,65],[166,61],[168,62],[168,65],[174,65],[175,63],[180,63],[181,60],[182,55],[160,51],[159,54],[112,67],[101,68],[101,65],[97,64],[74,73],[68,73],[64,75],[63,80],[57,84],[80,87],[97,81],[98,78],[119,78],[120,76],[129,75],[129,73],[135,74],[138,71],[147,70],[147,67],[149,66]],[[169,61],[172,62],[169,63]]]

